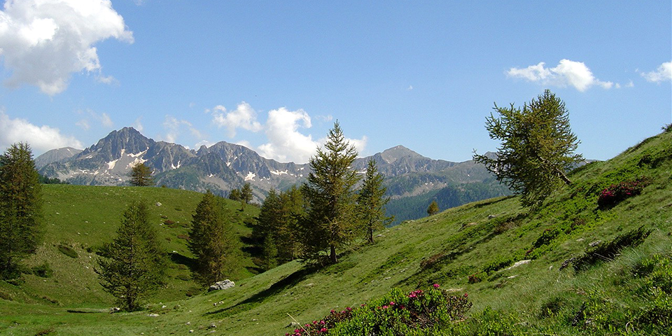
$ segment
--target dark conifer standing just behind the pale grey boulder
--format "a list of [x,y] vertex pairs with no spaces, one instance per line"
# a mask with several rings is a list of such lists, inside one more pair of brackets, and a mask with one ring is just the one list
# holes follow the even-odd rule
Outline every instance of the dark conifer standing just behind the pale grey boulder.
[[195,279],[205,286],[237,272],[239,244],[228,220],[222,200],[208,190],[193,215],[188,246],[196,259]]

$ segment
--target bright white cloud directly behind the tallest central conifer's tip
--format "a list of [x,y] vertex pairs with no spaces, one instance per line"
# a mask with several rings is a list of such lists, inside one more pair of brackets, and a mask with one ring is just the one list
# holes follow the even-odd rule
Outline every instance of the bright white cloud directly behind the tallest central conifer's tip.
[[[308,162],[315,155],[318,146],[322,146],[326,139],[313,140],[310,134],[304,135],[299,132],[300,128],[310,128],[311,119],[302,109],[289,111],[280,108],[269,111],[265,125],[267,144],[259,146],[259,154],[265,158],[271,158],[281,162]],[[367,139],[346,139],[353,144],[358,151],[363,151]]]

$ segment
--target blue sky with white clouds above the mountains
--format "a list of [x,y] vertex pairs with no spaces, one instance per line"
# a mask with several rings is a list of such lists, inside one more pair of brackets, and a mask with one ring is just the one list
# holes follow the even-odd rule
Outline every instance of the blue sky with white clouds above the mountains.
[[338,120],[363,156],[463,161],[545,88],[586,158],[672,123],[671,1],[17,0],[0,50],[0,149],[37,155],[133,126],[306,162]]

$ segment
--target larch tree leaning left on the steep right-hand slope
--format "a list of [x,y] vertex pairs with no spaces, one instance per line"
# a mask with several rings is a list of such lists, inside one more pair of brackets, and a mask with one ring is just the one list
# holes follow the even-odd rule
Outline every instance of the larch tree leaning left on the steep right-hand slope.
[[565,104],[549,90],[523,108],[494,110],[486,119],[492,139],[502,141],[496,158],[474,153],[482,163],[515,193],[525,207],[538,207],[556,190],[559,183],[570,184],[566,172],[583,160],[574,154],[579,141],[572,133]]

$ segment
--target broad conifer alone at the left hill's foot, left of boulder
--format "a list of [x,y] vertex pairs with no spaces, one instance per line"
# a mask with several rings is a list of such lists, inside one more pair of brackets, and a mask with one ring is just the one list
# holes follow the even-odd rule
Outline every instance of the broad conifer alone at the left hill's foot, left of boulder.
[[139,309],[141,300],[165,279],[165,250],[148,218],[145,202],[127,207],[117,237],[104,248],[95,272],[105,290],[116,297],[122,309]]

